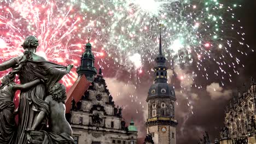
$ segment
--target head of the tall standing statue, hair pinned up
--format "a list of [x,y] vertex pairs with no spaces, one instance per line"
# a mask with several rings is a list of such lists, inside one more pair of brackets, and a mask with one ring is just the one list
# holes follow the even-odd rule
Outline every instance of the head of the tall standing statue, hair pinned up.
[[28,35],[21,46],[24,50],[32,50],[33,52],[36,52],[38,45],[38,39],[34,35]]

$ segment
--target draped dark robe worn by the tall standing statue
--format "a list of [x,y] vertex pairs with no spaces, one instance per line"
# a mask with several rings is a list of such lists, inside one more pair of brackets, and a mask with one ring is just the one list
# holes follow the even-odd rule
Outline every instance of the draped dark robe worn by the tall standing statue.
[[[19,63],[20,57],[15,61]],[[31,128],[36,121],[40,111],[49,111],[44,98],[48,89],[67,74],[67,67],[48,61],[27,61],[19,73],[21,84],[31,82],[35,79],[43,79],[45,84],[39,84],[27,91],[21,91],[19,101],[19,123],[18,123],[18,144],[27,143],[25,129]],[[43,130],[46,124],[39,125],[38,130]]]

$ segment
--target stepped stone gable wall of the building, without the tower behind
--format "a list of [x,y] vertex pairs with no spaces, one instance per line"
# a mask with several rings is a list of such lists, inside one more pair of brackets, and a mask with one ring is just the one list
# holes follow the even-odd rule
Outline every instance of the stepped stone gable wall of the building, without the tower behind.
[[[85,92],[84,98],[79,101],[80,109],[77,107],[70,112],[69,122],[73,129],[74,140],[78,140],[79,144],[98,142],[136,144],[137,131],[129,131],[124,124],[121,124],[121,109],[110,101],[106,83],[99,76],[95,80],[97,82],[94,81]],[[97,95],[101,98],[97,99]],[[98,116],[96,119],[100,119],[99,123],[93,121],[96,115]]]

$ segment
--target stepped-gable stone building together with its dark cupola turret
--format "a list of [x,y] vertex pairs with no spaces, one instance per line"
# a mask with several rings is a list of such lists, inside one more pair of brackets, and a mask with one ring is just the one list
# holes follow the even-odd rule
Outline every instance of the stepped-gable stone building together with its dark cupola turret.
[[[136,144],[137,128],[135,124],[131,121],[129,127],[126,127],[126,123],[122,119],[122,108],[115,105],[102,76],[102,70],[100,69],[97,74],[94,60],[91,44],[88,43],[77,73],[78,80],[85,76],[91,85],[88,89],[78,88],[78,90],[75,90],[78,85],[73,85],[72,91],[78,92],[72,94],[72,97],[79,97],[79,100],[72,100],[67,118],[73,130],[75,143]],[[83,82],[80,82],[79,85],[83,85]],[[83,93],[77,95],[81,91]]]

